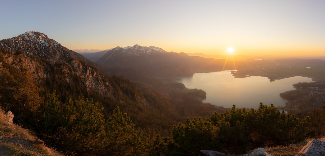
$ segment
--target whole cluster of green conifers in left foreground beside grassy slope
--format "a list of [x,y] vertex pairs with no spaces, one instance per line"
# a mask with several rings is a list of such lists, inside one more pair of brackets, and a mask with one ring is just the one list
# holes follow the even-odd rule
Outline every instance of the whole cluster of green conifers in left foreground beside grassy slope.
[[69,155],[147,155],[149,135],[143,133],[126,113],[117,107],[104,119],[99,102],[72,100],[69,96],[60,105],[59,96],[53,91],[40,106],[42,121],[38,124],[46,142],[52,142]]

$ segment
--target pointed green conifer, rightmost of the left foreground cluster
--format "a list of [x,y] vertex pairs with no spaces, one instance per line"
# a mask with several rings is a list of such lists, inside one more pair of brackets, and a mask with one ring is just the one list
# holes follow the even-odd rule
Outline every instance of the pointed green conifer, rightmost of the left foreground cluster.
[[126,113],[117,107],[106,122],[106,137],[102,139],[102,154],[147,155],[150,147],[149,135],[143,134]]

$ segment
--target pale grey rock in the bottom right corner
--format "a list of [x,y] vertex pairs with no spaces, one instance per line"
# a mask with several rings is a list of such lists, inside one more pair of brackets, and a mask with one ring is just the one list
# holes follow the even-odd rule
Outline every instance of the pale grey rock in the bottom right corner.
[[325,139],[311,140],[299,152],[303,156],[325,156]]

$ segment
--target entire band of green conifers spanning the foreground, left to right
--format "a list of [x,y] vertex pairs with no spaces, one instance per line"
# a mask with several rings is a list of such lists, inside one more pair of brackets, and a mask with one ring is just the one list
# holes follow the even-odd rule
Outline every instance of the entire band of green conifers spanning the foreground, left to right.
[[99,102],[82,95],[64,104],[54,90],[37,111],[37,134],[68,155],[201,155],[200,150],[243,153],[256,147],[287,145],[314,135],[310,118],[280,112],[262,103],[187,118],[172,128],[171,137],[150,137],[119,107],[108,119]]

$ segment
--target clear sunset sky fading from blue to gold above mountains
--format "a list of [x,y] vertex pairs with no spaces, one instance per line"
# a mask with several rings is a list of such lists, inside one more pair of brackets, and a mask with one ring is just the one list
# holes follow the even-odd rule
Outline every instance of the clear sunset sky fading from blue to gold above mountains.
[[324,8],[324,0],[8,0],[0,39],[36,30],[68,49],[325,55]]

